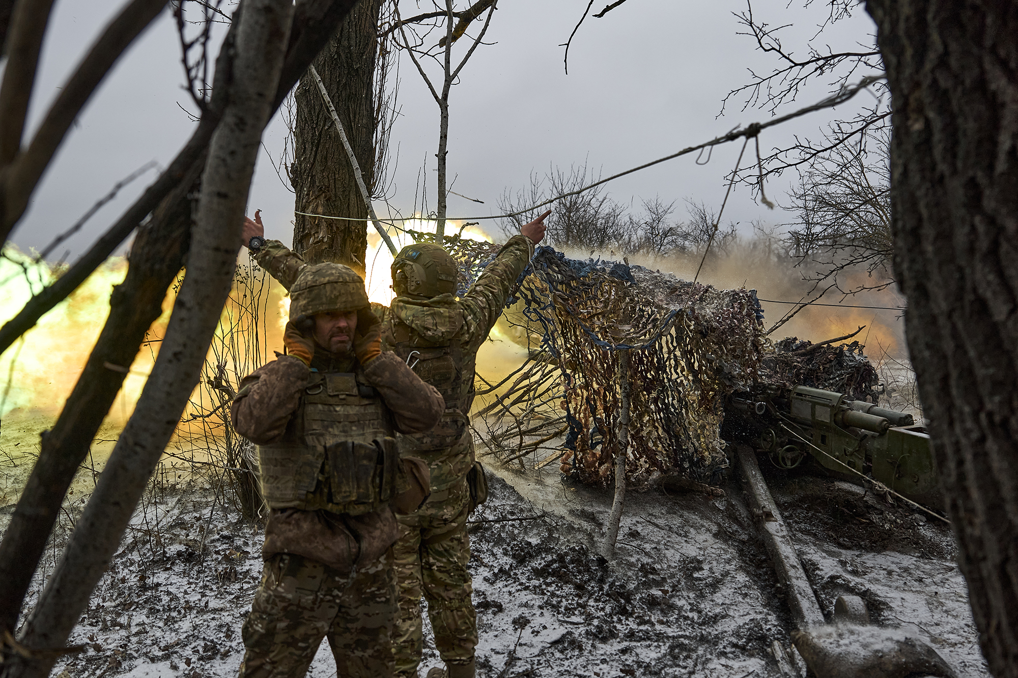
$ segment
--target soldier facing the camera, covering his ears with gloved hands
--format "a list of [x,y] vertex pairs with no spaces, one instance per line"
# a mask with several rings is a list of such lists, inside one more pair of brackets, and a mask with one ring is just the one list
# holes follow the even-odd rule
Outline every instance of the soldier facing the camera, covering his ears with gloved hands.
[[347,267],[304,267],[290,317],[288,354],[246,377],[231,410],[259,446],[270,509],[240,676],[303,676],[323,637],[339,676],[392,676],[399,526],[390,503],[412,511],[427,495],[394,436],[430,430],[445,404],[382,351],[363,281]]

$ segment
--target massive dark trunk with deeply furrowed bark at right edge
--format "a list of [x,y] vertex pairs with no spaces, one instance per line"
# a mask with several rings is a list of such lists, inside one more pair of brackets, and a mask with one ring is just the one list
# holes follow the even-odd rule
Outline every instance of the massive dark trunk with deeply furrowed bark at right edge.
[[1018,7],[866,8],[894,98],[909,352],[983,655],[1018,676]]

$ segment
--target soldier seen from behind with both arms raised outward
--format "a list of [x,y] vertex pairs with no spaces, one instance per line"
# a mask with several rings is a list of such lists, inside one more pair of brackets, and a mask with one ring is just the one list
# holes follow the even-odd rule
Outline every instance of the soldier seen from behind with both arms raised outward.
[[[466,518],[484,475],[474,462],[467,414],[473,401],[474,359],[488,338],[510,288],[526,268],[534,245],[545,236],[545,218],[521,227],[460,299],[455,296],[455,261],[442,247],[419,243],[404,247],[392,265],[397,297],[382,312],[386,343],[414,372],[438,387],[446,401],[441,422],[431,432],[402,436],[400,452],[428,461],[432,494],[420,509],[399,516],[394,547],[400,618],[394,633],[396,675],[415,678],[422,649],[420,595],[435,630],[435,644],[446,672],[429,678],[472,678],[477,644],[476,614],[466,564],[470,559]],[[284,286],[306,266],[278,240],[262,238],[258,213],[245,219],[244,236],[256,261]],[[467,483],[467,476],[473,481]],[[474,487],[470,487],[470,486]]]

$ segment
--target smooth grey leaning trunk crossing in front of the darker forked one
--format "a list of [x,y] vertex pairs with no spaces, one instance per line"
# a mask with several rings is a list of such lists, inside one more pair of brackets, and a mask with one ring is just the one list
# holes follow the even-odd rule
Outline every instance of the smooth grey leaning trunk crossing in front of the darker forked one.
[[[25,625],[20,640],[30,652],[66,642],[197,384],[236,268],[244,204],[292,16],[291,0],[243,5],[229,104],[209,149],[187,274],[134,413]],[[4,675],[46,676],[54,661],[41,654],[8,664]]]

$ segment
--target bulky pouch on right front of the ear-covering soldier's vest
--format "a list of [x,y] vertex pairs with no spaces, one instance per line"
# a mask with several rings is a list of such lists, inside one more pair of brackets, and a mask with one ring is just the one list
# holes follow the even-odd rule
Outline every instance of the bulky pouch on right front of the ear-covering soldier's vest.
[[330,503],[347,507],[351,515],[377,510],[410,487],[393,438],[370,444],[340,441],[327,446],[325,452]]

